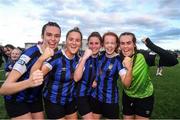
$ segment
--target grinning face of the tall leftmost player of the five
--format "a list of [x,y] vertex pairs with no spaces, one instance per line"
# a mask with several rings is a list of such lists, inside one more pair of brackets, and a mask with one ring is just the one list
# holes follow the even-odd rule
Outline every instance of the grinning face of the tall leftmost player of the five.
[[61,31],[56,26],[47,26],[42,35],[43,46],[55,49],[58,47],[61,37]]

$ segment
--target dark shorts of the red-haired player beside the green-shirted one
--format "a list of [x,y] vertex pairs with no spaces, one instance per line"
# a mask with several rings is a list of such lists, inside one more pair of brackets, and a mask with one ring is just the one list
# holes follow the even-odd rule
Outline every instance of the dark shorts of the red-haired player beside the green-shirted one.
[[91,104],[93,113],[101,114],[108,119],[119,119],[118,103],[102,103],[99,100],[92,98]]

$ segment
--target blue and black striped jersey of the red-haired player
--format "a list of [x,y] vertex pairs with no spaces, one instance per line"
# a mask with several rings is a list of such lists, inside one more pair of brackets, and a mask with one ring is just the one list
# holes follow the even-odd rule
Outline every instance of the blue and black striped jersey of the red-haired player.
[[119,74],[125,73],[126,70],[122,66],[119,55],[108,58],[103,54],[99,60],[96,75],[97,87],[92,92],[92,97],[103,103],[118,103],[117,80]]

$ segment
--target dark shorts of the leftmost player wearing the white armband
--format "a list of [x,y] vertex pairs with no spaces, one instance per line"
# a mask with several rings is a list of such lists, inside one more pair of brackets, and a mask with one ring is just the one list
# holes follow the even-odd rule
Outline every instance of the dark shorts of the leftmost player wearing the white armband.
[[26,113],[36,113],[43,111],[42,99],[38,101],[27,103],[27,102],[16,102],[5,100],[5,108],[10,118],[18,117]]

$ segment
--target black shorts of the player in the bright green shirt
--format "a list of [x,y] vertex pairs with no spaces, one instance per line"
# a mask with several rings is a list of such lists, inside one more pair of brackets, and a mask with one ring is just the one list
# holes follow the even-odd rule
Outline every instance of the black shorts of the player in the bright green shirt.
[[153,110],[154,95],[146,98],[132,98],[123,92],[122,105],[124,115],[139,115],[149,118]]

